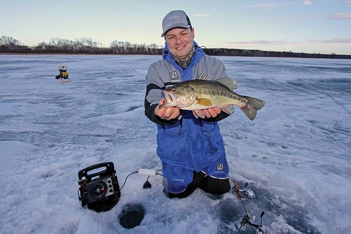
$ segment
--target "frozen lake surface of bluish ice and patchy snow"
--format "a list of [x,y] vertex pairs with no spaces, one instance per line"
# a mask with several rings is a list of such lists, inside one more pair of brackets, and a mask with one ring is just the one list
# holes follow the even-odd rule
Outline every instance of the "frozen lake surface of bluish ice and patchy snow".
[[[351,60],[218,57],[237,93],[266,101],[250,121],[220,121],[230,175],[265,233],[349,233]],[[77,172],[112,161],[120,185],[139,168],[161,169],[156,126],[144,116],[145,74],[160,56],[0,55],[2,233],[235,233],[244,209],[232,193],[201,189],[168,199],[162,177],[134,174],[110,211],[78,201]],[[55,79],[68,66],[71,83]],[[141,204],[140,226],[118,215]],[[240,233],[252,233],[245,225]]]

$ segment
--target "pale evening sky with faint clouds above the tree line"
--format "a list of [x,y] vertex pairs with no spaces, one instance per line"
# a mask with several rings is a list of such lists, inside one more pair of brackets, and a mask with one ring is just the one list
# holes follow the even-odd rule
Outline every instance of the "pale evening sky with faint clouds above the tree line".
[[171,10],[187,13],[207,48],[351,54],[351,0],[2,1],[0,36],[30,46],[51,38],[163,45]]

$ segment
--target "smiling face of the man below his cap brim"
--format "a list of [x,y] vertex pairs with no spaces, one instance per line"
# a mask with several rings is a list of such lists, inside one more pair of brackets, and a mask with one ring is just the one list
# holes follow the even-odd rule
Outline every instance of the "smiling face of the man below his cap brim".
[[193,51],[194,37],[194,29],[175,28],[166,33],[165,40],[172,56],[184,60]]

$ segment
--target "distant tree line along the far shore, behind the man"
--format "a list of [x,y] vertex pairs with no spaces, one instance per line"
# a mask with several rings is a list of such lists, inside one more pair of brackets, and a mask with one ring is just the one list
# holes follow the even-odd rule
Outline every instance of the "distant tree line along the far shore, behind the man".
[[[59,53],[59,54],[138,54],[161,55],[163,46],[154,43],[150,45],[133,44],[114,40],[109,47],[90,38],[67,40],[54,38],[48,43],[41,42],[35,46],[23,45],[20,41],[2,36],[0,38],[0,53]],[[294,58],[328,58],[351,59],[351,55],[308,54],[279,51],[243,50],[228,48],[203,48],[206,54],[213,56],[250,56],[250,57],[294,57]]]

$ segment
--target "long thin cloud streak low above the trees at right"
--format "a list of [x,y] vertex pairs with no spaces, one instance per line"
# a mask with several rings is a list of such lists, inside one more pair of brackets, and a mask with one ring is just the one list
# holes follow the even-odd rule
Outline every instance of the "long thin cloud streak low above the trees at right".
[[351,43],[351,38],[334,38],[332,40],[309,40],[309,41],[288,41],[288,40],[258,40],[258,41],[240,41],[240,42],[227,42],[227,44],[241,44],[241,45],[286,45],[286,44],[305,44],[305,43],[323,43],[323,44],[331,44],[331,43],[342,43],[347,44]]

